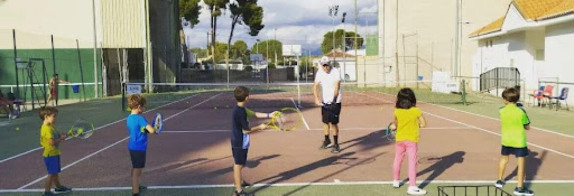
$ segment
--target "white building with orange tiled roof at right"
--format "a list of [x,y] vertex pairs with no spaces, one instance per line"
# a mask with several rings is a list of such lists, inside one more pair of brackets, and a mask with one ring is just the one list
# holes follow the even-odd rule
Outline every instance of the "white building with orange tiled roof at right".
[[518,68],[527,92],[538,88],[539,79],[574,82],[574,0],[515,0],[506,14],[470,38],[478,42],[475,77],[499,67]]

